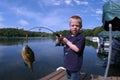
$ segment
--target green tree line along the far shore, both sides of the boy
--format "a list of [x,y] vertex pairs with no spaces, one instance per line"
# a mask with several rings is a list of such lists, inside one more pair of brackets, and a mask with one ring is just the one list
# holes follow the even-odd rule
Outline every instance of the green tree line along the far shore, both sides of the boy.
[[[97,36],[101,31],[103,31],[103,26],[96,27],[94,29],[83,29],[81,30],[85,36]],[[63,36],[70,33],[69,30],[57,31],[55,33],[47,33],[47,32],[35,32],[35,31],[27,31],[24,29],[18,28],[0,28],[0,37],[25,37],[26,33],[28,33],[29,37],[48,37],[55,36],[56,33],[62,34]]]

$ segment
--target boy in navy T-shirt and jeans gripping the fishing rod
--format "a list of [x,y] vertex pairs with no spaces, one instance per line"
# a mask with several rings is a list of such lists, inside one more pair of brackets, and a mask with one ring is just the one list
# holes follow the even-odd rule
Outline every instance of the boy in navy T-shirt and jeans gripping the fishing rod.
[[66,68],[67,80],[80,80],[80,69],[83,62],[85,36],[80,33],[82,19],[79,16],[70,18],[70,31],[66,37],[60,35],[57,42],[64,43],[64,67]]

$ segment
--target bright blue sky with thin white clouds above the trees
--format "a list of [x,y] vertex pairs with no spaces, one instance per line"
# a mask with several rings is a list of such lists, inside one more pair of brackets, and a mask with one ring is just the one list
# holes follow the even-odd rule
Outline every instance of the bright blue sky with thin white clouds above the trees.
[[69,18],[78,15],[83,20],[82,29],[93,29],[102,25],[103,4],[107,1],[0,0],[0,28],[69,30]]

